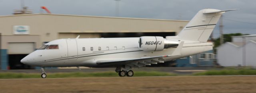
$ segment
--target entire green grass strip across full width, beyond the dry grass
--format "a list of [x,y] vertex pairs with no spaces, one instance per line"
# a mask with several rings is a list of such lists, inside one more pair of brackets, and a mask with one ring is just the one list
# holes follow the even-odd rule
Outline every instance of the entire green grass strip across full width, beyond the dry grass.
[[[218,75],[256,75],[256,70],[252,68],[224,68],[223,70],[209,70],[190,74],[192,76],[218,76]],[[190,76],[188,75],[188,76]],[[142,76],[184,76],[168,72],[134,72],[134,77]],[[116,72],[69,72],[69,73],[48,73],[47,78],[60,77],[119,77]],[[12,78],[41,78],[40,73],[0,73],[0,79]]]

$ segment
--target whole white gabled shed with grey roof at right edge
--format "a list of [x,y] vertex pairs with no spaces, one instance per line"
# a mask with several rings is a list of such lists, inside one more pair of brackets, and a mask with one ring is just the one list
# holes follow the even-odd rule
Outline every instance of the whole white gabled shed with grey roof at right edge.
[[256,66],[256,35],[232,37],[232,42],[217,48],[221,66]]

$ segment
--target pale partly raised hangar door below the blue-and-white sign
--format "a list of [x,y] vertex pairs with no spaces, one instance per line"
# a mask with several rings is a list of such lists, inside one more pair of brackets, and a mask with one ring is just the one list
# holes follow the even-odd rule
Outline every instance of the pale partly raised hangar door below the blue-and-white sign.
[[34,43],[8,43],[8,54],[30,54],[34,50]]

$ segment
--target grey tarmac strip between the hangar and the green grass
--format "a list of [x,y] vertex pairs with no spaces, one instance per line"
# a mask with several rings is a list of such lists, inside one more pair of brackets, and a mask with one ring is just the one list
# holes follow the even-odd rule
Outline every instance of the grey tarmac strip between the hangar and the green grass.
[[[134,68],[136,71],[157,71],[157,72],[170,72],[175,74],[192,74],[194,72],[204,72],[207,70],[221,70],[222,68],[213,67],[145,67]],[[47,73],[59,73],[59,72],[114,72],[115,68],[84,68],[78,69],[46,69]],[[0,72],[16,72],[16,73],[41,73],[40,70],[0,70]]]

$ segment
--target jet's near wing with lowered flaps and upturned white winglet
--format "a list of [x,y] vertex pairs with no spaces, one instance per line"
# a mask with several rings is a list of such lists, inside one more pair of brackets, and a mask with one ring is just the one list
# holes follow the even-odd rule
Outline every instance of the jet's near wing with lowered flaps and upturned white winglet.
[[130,67],[142,67],[145,65],[164,63],[165,61],[164,57],[181,55],[181,49],[183,47],[183,44],[184,44],[184,41],[182,41],[170,55],[130,58],[130,59],[124,59],[124,60],[98,60],[96,61],[96,64],[98,65],[126,64]]

